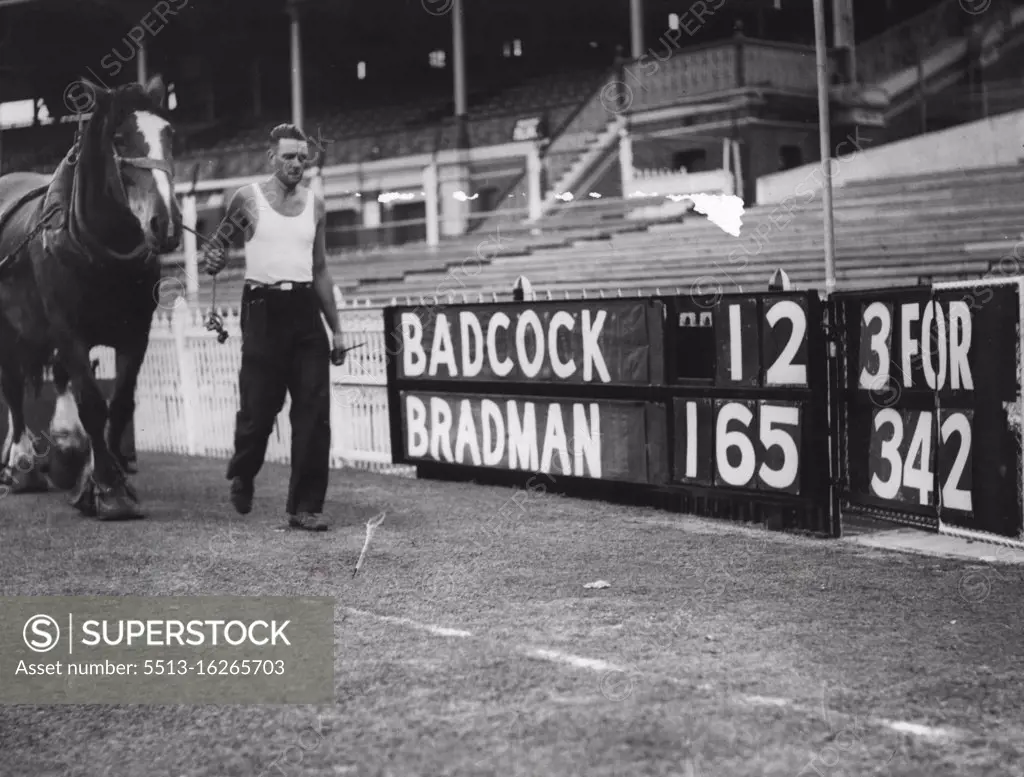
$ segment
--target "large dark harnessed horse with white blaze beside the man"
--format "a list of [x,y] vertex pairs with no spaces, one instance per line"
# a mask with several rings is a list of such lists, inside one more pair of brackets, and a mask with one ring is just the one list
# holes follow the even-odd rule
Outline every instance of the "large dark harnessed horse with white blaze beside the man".
[[[121,440],[150,343],[160,255],[181,240],[174,199],[173,128],[166,89],[106,89],[80,82],[92,103],[52,176],[0,176],[0,393],[8,407],[0,484],[4,492],[74,486],[70,504],[100,520],[142,517]],[[110,406],[91,348],[115,349]],[[27,383],[39,396],[52,372],[51,443],[27,428]],[[71,472],[46,476],[47,466]],[[62,465],[62,467],[60,466]]]

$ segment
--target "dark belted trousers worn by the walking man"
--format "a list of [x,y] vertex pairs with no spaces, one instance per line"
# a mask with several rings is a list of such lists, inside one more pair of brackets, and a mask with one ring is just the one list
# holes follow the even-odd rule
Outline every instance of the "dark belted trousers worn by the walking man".
[[292,399],[292,477],[287,511],[319,513],[331,455],[331,349],[311,288],[246,287],[242,293],[240,408],[227,478],[254,478],[285,403]]

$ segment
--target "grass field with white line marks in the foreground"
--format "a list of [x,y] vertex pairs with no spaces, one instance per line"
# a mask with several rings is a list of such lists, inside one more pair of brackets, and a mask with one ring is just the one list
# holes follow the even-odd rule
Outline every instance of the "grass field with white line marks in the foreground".
[[282,467],[245,517],[140,470],[143,521],[0,500],[3,595],[331,596],[335,704],[2,706],[4,777],[1024,775],[1021,567],[351,471],[282,531]]

